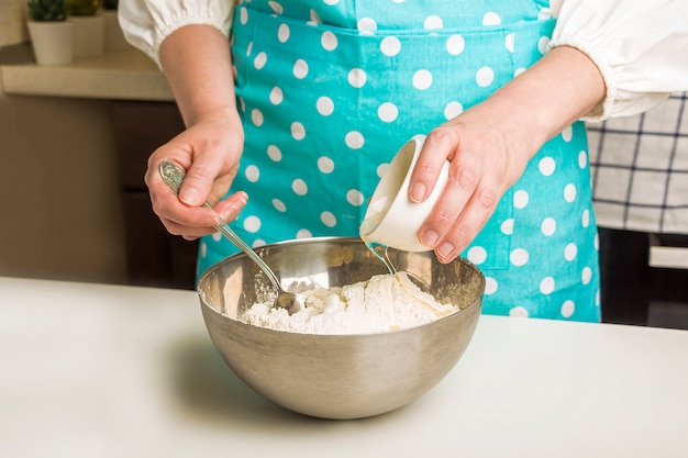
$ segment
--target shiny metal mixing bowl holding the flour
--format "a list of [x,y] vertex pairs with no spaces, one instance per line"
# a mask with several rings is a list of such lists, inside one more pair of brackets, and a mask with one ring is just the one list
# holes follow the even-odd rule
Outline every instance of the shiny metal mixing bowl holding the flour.
[[[310,238],[256,252],[286,289],[336,287],[386,273],[359,238]],[[359,418],[415,400],[456,365],[476,328],[485,278],[470,262],[440,264],[431,252],[389,249],[398,270],[419,278],[440,302],[460,310],[432,323],[377,334],[322,335],[273,331],[237,321],[275,294],[267,277],[243,254],[211,267],[199,280],[210,337],[248,387],[295,412],[323,418]]]

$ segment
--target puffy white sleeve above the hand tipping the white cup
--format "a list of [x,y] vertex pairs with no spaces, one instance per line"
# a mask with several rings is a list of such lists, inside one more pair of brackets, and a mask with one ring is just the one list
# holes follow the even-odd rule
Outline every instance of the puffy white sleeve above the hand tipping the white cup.
[[551,8],[548,47],[578,48],[607,85],[585,121],[641,113],[688,90],[688,0],[552,0]]

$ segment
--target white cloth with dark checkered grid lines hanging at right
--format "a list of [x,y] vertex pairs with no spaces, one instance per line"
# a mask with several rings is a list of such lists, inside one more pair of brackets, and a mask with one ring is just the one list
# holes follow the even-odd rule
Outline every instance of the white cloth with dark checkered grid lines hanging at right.
[[688,102],[674,93],[635,116],[589,123],[600,227],[688,234]]

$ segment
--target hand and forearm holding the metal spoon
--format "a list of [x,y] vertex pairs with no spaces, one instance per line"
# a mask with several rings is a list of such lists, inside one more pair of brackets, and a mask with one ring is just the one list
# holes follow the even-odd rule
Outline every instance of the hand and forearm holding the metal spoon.
[[[244,192],[220,200],[236,176],[244,148],[232,56],[218,29],[192,24],[165,38],[159,58],[188,129],[153,153],[145,181],[153,211],[167,231],[192,239],[215,232],[219,216],[232,221],[246,204]],[[163,160],[186,171],[179,198],[159,175]],[[206,201],[215,211],[202,208]]]

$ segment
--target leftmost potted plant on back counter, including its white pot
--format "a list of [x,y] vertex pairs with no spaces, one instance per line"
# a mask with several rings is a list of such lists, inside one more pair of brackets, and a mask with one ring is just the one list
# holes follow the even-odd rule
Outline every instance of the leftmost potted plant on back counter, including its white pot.
[[27,7],[29,36],[38,65],[73,62],[74,31],[65,0],[30,0]]

